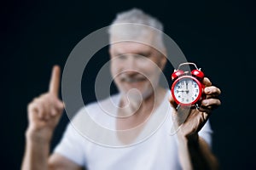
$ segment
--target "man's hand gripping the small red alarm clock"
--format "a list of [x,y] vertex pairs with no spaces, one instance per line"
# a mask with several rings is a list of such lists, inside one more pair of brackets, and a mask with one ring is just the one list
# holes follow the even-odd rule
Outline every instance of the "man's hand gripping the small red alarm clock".
[[172,96],[169,99],[175,109],[172,114],[175,131],[183,137],[197,136],[201,127],[207,122],[212,110],[221,104],[218,99],[218,95],[221,94],[220,89],[212,86],[212,82],[207,77],[203,79],[203,83],[206,87],[203,92],[206,95],[206,99],[201,101],[199,109],[195,107],[179,107],[176,110],[177,104]]

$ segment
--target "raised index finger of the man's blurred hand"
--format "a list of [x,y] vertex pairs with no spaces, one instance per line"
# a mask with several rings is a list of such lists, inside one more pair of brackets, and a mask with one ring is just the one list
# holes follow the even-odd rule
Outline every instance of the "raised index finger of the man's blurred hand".
[[51,72],[51,77],[49,82],[49,93],[55,94],[55,96],[58,96],[60,79],[61,79],[61,68],[60,66],[55,65]]

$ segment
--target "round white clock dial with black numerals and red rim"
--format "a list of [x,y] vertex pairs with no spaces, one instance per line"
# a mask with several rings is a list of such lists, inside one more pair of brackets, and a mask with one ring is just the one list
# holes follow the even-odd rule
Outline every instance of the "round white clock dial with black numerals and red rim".
[[179,105],[194,105],[201,99],[201,82],[195,77],[177,78],[172,85],[172,96]]

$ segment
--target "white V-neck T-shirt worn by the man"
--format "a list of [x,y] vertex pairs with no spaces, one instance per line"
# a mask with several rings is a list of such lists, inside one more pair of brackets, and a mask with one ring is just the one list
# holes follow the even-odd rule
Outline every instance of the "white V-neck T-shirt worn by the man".
[[[168,102],[169,95],[170,91],[150,116],[137,139],[128,145],[122,144],[114,131],[115,106],[119,105],[120,94],[85,106],[68,124],[55,153],[89,170],[181,169],[177,156],[177,137],[171,133],[172,108]],[[209,122],[199,135],[211,145]]]

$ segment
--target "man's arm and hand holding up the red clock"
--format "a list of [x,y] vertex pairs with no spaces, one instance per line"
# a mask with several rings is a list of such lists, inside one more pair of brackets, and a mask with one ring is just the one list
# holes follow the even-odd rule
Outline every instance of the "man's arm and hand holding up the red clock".
[[[220,105],[220,90],[212,86],[208,78],[204,78],[207,98],[201,102],[199,109],[179,107],[172,114],[174,129],[178,140],[178,154],[183,169],[218,169],[218,161],[206,141],[198,132],[207,122],[212,110]],[[174,99],[170,98],[173,108],[177,108]]]

